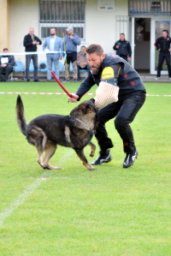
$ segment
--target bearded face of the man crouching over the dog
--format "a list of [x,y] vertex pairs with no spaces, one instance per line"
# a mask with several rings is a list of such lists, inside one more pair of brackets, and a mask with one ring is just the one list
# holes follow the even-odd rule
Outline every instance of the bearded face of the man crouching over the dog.
[[98,74],[99,69],[102,66],[103,59],[105,58],[105,54],[103,53],[101,56],[98,56],[96,52],[87,54],[88,61],[91,66],[92,74]]

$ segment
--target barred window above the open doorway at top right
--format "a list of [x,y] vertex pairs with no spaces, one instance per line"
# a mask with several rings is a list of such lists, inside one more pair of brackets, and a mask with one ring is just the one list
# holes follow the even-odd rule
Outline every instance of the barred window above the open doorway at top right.
[[171,15],[171,1],[129,0],[129,15]]

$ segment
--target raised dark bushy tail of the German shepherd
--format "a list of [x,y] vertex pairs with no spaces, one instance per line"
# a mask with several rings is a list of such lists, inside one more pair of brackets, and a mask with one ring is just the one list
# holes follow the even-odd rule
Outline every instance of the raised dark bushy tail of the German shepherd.
[[19,95],[16,100],[16,122],[21,129],[21,133],[27,135],[27,119],[24,114],[24,106],[22,104],[21,96]]

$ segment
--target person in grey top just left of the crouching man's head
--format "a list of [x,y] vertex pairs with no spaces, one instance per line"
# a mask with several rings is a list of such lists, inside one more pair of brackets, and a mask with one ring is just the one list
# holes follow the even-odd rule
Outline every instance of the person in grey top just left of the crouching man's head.
[[78,79],[80,80],[80,69],[88,70],[88,59],[86,57],[85,46],[81,46],[80,51],[77,53],[77,69]]

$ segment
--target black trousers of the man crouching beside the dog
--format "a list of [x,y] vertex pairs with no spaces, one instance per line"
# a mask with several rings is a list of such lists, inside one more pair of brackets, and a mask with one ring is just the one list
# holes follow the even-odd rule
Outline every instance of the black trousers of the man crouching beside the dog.
[[135,150],[133,130],[129,124],[133,122],[144,101],[145,92],[132,91],[127,95],[119,96],[118,102],[109,104],[97,112],[99,124],[95,136],[102,151],[114,146],[108,137],[105,123],[115,116],[115,128],[123,141],[124,152]]

